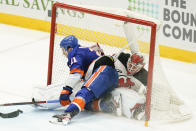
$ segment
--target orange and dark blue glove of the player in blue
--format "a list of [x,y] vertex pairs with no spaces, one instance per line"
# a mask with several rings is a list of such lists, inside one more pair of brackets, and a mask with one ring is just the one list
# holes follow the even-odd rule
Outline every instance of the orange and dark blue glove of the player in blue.
[[70,98],[69,98],[71,94],[72,94],[71,87],[69,87],[69,86],[63,87],[63,90],[62,90],[60,98],[59,98],[60,104],[62,106],[66,106],[71,103]]

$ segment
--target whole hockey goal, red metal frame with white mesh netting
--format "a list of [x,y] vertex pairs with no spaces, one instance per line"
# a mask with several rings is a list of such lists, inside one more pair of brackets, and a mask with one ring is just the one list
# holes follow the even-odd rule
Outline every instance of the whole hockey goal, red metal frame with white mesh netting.
[[[64,83],[69,74],[67,58],[59,43],[68,35],[78,38],[82,46],[99,43],[106,55],[118,53],[128,40],[123,30],[130,23],[133,40],[145,56],[148,70],[146,94],[146,120],[180,121],[191,117],[184,102],[169,85],[160,63],[157,32],[160,21],[126,9],[67,5],[55,3],[52,10],[48,85]],[[139,37],[138,37],[139,36]],[[124,52],[129,52],[126,48]]]

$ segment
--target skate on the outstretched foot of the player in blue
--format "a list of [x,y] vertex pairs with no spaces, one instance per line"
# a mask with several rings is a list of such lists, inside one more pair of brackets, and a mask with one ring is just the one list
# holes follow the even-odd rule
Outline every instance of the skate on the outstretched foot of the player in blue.
[[70,112],[66,112],[64,114],[60,114],[60,115],[54,115],[52,117],[52,120],[50,120],[49,122],[52,124],[58,124],[58,125],[68,125],[70,123],[72,119],[72,115]]

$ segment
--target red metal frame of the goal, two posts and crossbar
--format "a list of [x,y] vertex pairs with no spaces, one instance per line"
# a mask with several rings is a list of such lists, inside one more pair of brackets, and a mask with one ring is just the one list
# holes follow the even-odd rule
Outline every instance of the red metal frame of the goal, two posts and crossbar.
[[[48,62],[48,79],[47,79],[47,85],[51,84],[51,79],[52,79],[52,63],[53,63],[53,49],[54,49],[54,36],[55,36],[55,21],[56,21],[56,10],[57,8],[66,8],[66,9],[71,9],[75,11],[81,11],[84,13],[89,13],[93,15],[98,15],[102,17],[107,17],[111,19],[117,19],[117,20],[122,20],[122,21],[127,21],[135,24],[140,24],[140,25],[146,25],[151,27],[151,38],[150,38],[150,55],[149,55],[149,68],[148,68],[148,82],[147,82],[147,96],[151,95],[151,87],[152,87],[152,71],[153,71],[153,63],[154,63],[154,51],[155,51],[155,39],[156,39],[156,23],[152,21],[146,21],[146,20],[141,20],[141,19],[136,19],[136,18],[131,18],[131,17],[126,17],[126,16],[120,16],[116,14],[111,14],[111,13],[106,13],[106,12],[101,12],[97,10],[92,10],[92,9],[87,9],[87,8],[82,8],[78,6],[73,6],[73,5],[68,5],[68,4],[63,4],[63,3],[54,3],[52,7],[52,19],[51,19],[51,32],[50,32],[50,50],[49,50],[49,62]],[[150,98],[150,97],[148,97]],[[146,120],[148,121],[150,119],[150,99],[146,100]]]

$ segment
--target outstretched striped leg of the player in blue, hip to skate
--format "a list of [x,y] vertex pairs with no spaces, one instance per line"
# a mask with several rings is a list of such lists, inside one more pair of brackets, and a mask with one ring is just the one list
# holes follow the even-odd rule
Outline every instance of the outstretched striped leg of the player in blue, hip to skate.
[[[112,76],[112,77],[111,77]],[[110,66],[100,66],[91,77],[85,81],[83,88],[78,91],[72,103],[64,111],[63,117],[59,115],[54,118],[65,118],[67,124],[71,118],[81,112],[85,105],[94,99],[98,99],[107,92],[112,91],[118,83],[118,73]]]

